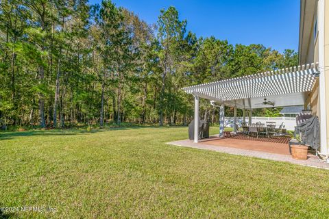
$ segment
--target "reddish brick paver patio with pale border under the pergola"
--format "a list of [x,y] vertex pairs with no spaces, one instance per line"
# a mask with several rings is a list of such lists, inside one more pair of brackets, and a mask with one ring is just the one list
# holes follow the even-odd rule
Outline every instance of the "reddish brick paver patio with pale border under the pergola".
[[[299,164],[303,166],[324,168],[329,170],[329,164],[320,161],[315,155],[308,155],[308,159],[306,160],[293,159],[291,155],[289,155],[289,149],[287,149],[287,145],[281,145],[282,150],[280,151],[278,150],[279,145],[274,145],[276,146],[276,149],[271,149],[273,142],[257,142],[250,140],[239,140],[239,142],[234,142],[234,139],[232,138],[210,138],[199,143],[193,143],[191,140],[180,140],[175,142],[168,142],[167,144],[184,146],[194,149],[218,151],[232,155],[271,159],[279,162],[289,162],[291,164]],[[269,144],[271,144],[271,146],[269,146]],[[273,151],[266,151],[266,149]]]

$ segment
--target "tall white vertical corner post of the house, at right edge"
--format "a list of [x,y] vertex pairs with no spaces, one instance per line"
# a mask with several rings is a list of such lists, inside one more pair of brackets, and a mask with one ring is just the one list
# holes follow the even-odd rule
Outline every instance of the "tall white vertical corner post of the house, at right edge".
[[[328,2],[327,2],[328,3]],[[318,22],[319,27],[319,95],[320,95],[320,152],[322,155],[328,155],[328,140],[327,140],[327,116],[326,115],[326,75],[324,62],[324,14],[325,0],[319,0]],[[328,103],[327,103],[328,104]]]

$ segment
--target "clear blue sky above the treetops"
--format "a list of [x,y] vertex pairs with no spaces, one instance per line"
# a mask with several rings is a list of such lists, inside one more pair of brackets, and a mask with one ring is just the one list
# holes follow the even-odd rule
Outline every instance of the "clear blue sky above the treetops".
[[[100,3],[101,0],[90,0]],[[112,0],[156,23],[160,9],[175,6],[188,30],[231,44],[260,43],[280,52],[298,50],[300,0]]]

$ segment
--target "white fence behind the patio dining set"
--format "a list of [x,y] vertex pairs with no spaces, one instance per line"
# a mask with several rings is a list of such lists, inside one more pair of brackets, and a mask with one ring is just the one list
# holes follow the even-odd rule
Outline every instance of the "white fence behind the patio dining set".
[[[249,118],[245,117],[245,122],[248,123]],[[236,122],[241,123],[243,121],[242,117],[237,117]],[[252,123],[265,123],[266,122],[276,122],[276,127],[279,127],[282,123],[284,128],[287,130],[295,130],[296,118],[293,117],[252,117]],[[225,117],[225,126],[232,127],[233,117]]]

